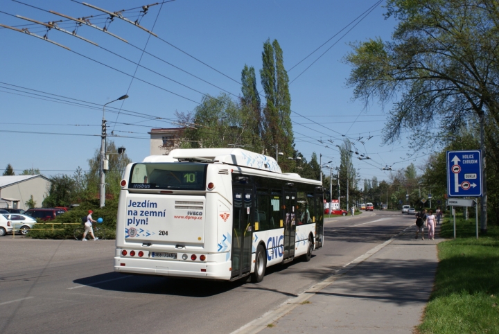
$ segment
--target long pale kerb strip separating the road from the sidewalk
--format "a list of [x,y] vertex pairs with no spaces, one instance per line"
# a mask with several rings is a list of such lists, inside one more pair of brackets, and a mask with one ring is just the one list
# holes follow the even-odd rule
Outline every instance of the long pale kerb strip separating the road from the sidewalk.
[[392,243],[392,241],[395,240],[395,238],[397,238],[401,234],[404,234],[405,231],[412,228],[413,225],[414,224],[411,224],[410,226],[406,227],[405,229],[400,231],[398,234],[396,234],[389,240],[386,240],[384,243],[377,245],[376,247],[372,248],[365,254],[362,254],[355,260],[347,263],[342,267],[342,269],[337,270],[327,279],[324,279],[324,281],[315,283],[310,288],[306,289],[304,292],[301,292],[298,295],[298,297],[292,297],[287,301],[284,301],[283,304],[277,306],[277,308],[275,308],[274,310],[269,310],[268,312],[264,313],[261,317],[254,319],[252,322],[248,322],[244,326],[236,329],[236,331],[232,332],[231,334],[250,334],[250,333],[255,334],[259,333],[260,331],[263,331],[263,329],[267,328],[267,324],[276,322],[281,317],[290,313],[293,309],[297,308],[302,302],[315,296],[315,292],[319,292],[320,290],[326,288],[326,286],[331,285],[334,281],[339,279],[340,276],[352,270],[354,267],[356,267],[356,265],[369,258],[369,256],[374,255],[375,253],[379,252],[380,249]]

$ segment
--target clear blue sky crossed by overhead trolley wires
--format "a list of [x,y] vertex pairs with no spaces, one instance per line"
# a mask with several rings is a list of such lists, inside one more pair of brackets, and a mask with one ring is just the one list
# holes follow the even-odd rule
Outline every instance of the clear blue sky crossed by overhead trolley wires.
[[[19,1],[71,17],[102,14],[71,0]],[[152,2],[87,1],[110,11],[128,10]],[[396,22],[383,17],[384,2],[365,19],[356,21],[358,24],[355,27],[350,25],[291,69],[375,3],[377,1],[374,0],[176,0],[152,6],[141,19],[141,26],[153,30],[163,40],[119,19],[110,24],[108,31],[129,43],[88,26],[78,28],[78,35],[116,55],[57,30],[50,30],[48,38],[69,47],[71,51],[0,28],[0,139],[3,143],[0,168],[3,170],[7,164],[12,164],[20,173],[34,166],[45,175],[72,174],[78,166],[87,170],[87,159],[100,148],[98,135],[102,105],[127,93],[130,98],[123,104],[116,101],[106,107],[106,119],[114,134],[124,136],[114,138],[116,145],[124,146],[132,161],[141,161],[149,155],[147,132],[151,128],[176,127],[169,122],[175,118],[176,110],[189,112],[200,103],[202,94],[218,96],[220,89],[240,95],[238,82],[241,70],[248,64],[259,72],[263,42],[270,38],[277,39],[283,49],[285,67],[290,69],[290,81],[331,47],[290,84],[297,149],[307,159],[312,152],[316,152],[323,155],[322,161],[333,160],[331,166],[338,166],[340,157],[335,145],[341,145],[342,134],[351,139],[363,137],[360,140],[365,143],[355,141],[355,146],[358,152],[369,155],[371,160],[354,159],[360,177],[387,179],[389,172],[381,170],[385,165],[396,163],[393,168],[400,169],[414,160],[408,159],[405,141],[380,146],[380,130],[387,118],[386,111],[383,112],[379,105],[371,105],[366,111],[360,101],[351,100],[352,91],[345,87],[350,67],[342,62],[344,55],[351,50],[350,42],[377,36],[389,39]],[[11,15],[43,22],[63,19],[59,24],[61,28],[69,31],[76,28],[72,21],[15,1],[3,0],[0,10],[0,24],[26,27],[37,35],[44,35],[45,28]],[[138,11],[128,10],[124,15],[134,20],[139,15]],[[103,27],[105,17],[107,15],[93,17],[90,21]],[[342,37],[344,33],[347,35]],[[150,55],[142,55],[140,49],[144,46],[148,53],[180,69]],[[141,66],[161,76],[142,67],[137,69],[137,64],[133,62],[140,62]],[[132,79],[134,73],[135,79]],[[257,77],[259,80],[258,74]],[[60,96],[52,96],[59,98],[59,103],[41,92]],[[63,103],[62,100],[67,101],[67,98],[85,101],[80,102],[84,105],[94,103],[94,108]],[[123,112],[116,114],[120,107]],[[151,120],[138,114],[131,116],[130,112],[163,119]],[[299,115],[307,116],[313,122]],[[373,137],[366,140],[369,136]],[[324,173],[329,174],[326,170]]]

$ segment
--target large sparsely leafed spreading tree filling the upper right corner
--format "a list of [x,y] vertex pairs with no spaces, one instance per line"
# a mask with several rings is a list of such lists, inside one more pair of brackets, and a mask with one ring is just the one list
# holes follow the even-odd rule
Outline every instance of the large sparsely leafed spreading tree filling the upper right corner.
[[[385,143],[405,129],[428,132],[428,125],[454,132],[469,122],[484,125],[482,155],[498,139],[499,6],[496,0],[388,0],[387,17],[399,20],[392,42],[356,44],[346,60],[354,97],[394,103]],[[486,123],[486,121],[488,121]],[[414,136],[414,144],[429,136]],[[435,138],[439,138],[436,136]],[[487,231],[487,173],[484,166],[482,231]],[[496,168],[497,169],[497,168]]]

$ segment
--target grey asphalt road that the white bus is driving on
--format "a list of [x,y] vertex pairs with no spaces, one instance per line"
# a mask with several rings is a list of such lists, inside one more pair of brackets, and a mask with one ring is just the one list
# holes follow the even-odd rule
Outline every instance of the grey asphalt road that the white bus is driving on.
[[0,333],[231,333],[322,281],[414,220],[400,212],[335,217],[310,262],[261,283],[113,272],[114,240],[0,238]]

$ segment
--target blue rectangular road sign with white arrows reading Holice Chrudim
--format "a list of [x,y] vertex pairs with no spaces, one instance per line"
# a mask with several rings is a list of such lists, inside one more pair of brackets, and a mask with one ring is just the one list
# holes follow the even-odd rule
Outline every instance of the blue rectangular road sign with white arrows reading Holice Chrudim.
[[447,151],[447,195],[482,196],[482,151]]

